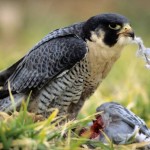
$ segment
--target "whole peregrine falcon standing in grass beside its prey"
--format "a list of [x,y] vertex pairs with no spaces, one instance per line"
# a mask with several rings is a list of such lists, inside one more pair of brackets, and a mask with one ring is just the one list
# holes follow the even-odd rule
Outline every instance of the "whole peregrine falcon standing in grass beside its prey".
[[75,118],[134,40],[126,17],[106,13],[50,32],[23,58],[0,72],[0,111],[13,109],[8,85],[18,108],[32,91],[28,110],[48,117]]

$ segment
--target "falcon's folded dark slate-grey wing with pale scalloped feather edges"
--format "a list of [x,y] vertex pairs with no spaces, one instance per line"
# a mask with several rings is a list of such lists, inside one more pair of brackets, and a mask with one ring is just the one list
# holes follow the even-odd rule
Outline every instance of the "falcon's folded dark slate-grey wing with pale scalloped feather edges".
[[42,88],[61,72],[82,60],[86,52],[85,42],[73,35],[57,37],[39,45],[24,57],[8,79],[11,90],[25,92]]

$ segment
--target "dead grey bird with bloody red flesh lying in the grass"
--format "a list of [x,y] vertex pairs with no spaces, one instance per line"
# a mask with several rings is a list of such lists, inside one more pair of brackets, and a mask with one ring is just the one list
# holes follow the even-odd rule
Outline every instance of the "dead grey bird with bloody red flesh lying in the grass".
[[97,107],[96,112],[95,119],[86,128],[78,129],[79,136],[105,144],[110,141],[117,145],[144,142],[140,147],[150,149],[150,129],[132,111],[119,103],[106,102]]

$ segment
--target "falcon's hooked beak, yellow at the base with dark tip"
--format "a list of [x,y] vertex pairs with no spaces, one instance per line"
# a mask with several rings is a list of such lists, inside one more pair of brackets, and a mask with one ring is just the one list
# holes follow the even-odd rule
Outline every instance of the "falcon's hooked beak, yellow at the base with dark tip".
[[132,37],[134,39],[134,32],[129,24],[125,24],[121,31],[118,33],[119,35],[122,34],[124,36]]

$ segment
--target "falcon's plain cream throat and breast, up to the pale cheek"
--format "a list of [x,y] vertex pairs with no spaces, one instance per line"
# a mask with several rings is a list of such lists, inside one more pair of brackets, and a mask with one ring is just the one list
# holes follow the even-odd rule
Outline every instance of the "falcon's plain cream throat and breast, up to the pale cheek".
[[100,36],[97,36],[93,32],[91,41],[86,41],[89,49],[87,60],[89,62],[90,74],[92,78],[95,79],[95,84],[105,78],[114,62],[119,58],[123,47],[126,45],[124,43],[128,43],[128,39],[127,42],[125,42],[124,40],[126,39],[121,37],[117,44],[109,47],[103,42],[103,38],[103,32],[100,33]]

